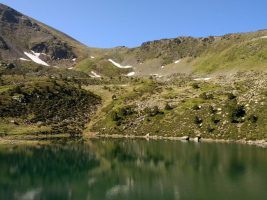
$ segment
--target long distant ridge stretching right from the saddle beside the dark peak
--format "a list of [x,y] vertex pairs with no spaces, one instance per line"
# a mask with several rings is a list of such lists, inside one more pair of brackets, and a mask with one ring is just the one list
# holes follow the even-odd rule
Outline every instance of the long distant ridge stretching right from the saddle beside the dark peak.
[[[87,63],[83,61],[77,68],[86,71],[98,60],[113,59],[121,65],[132,66],[137,76],[229,74],[242,70],[266,70],[267,30],[207,38],[162,39],[145,42],[136,48],[118,47],[93,53],[96,54],[93,57],[97,59],[88,58]],[[101,66],[98,70],[99,73],[103,71]]]

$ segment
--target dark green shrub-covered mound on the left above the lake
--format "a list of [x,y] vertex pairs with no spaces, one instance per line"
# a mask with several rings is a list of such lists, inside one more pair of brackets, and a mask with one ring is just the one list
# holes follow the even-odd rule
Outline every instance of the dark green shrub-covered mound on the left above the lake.
[[13,118],[16,125],[51,126],[52,133],[76,135],[99,103],[99,97],[68,83],[35,81],[1,93],[0,117]]

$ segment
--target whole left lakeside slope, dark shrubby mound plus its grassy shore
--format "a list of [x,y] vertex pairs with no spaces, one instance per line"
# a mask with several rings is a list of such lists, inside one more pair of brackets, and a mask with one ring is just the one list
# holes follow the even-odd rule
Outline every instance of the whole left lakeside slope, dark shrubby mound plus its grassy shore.
[[1,136],[81,134],[101,103],[100,97],[81,88],[86,78],[89,79],[85,74],[46,70],[42,66],[9,70],[3,65],[1,69]]

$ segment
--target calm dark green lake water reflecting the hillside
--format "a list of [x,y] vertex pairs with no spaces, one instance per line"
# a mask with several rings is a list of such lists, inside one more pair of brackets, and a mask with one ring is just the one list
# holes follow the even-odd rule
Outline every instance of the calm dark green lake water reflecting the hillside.
[[262,200],[267,149],[92,140],[0,148],[1,200]]

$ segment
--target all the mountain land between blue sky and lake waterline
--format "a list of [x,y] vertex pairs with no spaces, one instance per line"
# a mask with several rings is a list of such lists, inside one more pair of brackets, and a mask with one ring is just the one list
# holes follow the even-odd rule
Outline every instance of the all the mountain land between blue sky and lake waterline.
[[266,139],[266,69],[267,30],[97,49],[0,4],[0,139]]

